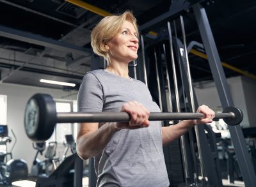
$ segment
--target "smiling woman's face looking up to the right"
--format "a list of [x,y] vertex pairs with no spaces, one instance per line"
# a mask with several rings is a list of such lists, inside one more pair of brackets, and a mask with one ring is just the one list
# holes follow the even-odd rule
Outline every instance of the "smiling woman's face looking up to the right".
[[107,44],[110,61],[129,63],[137,59],[138,33],[131,22],[125,20],[121,31]]

